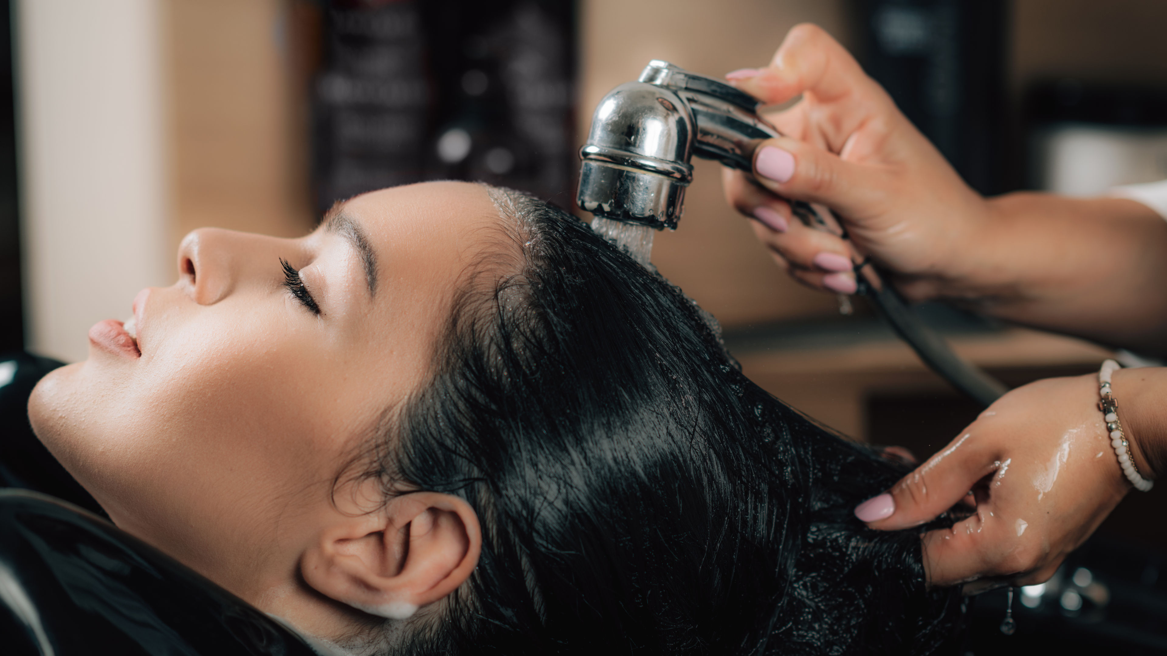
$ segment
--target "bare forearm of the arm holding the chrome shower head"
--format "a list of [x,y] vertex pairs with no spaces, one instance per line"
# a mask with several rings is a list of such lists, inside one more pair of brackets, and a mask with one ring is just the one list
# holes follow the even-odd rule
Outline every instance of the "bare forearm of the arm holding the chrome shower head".
[[978,312],[1167,353],[1167,221],[1124,198],[987,201],[939,295]]

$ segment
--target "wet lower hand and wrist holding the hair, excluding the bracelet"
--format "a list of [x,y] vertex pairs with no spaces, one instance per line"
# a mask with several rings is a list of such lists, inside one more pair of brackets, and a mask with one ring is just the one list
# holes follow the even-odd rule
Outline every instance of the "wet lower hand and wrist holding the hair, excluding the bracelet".
[[[1148,479],[1163,462],[1162,411],[1155,399],[1167,386],[1165,374],[1123,370],[1112,383],[1135,466]],[[1132,489],[1097,403],[1096,375],[1013,390],[855,515],[872,528],[895,530],[922,524],[958,502],[974,503],[973,514],[952,529],[923,536],[928,580],[984,579],[966,586],[966,593],[1044,581]]]

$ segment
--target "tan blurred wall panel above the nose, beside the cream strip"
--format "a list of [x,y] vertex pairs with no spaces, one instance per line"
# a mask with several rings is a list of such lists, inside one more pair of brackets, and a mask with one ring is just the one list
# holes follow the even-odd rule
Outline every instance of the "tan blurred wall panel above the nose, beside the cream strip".
[[163,4],[172,244],[204,225],[302,235],[314,218],[289,2]]

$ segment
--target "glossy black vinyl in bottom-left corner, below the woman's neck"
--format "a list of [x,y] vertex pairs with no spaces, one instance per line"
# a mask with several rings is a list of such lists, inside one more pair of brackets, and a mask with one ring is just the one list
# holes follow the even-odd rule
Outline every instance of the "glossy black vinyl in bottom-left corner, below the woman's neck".
[[105,519],[16,489],[0,490],[0,652],[314,654],[260,610]]

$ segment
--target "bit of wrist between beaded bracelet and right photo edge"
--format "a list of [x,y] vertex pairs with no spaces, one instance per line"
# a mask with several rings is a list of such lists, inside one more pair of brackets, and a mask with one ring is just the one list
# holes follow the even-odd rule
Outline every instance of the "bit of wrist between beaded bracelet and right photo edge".
[[1111,386],[1131,459],[1144,479],[1155,480],[1167,465],[1167,368],[1120,369]]

